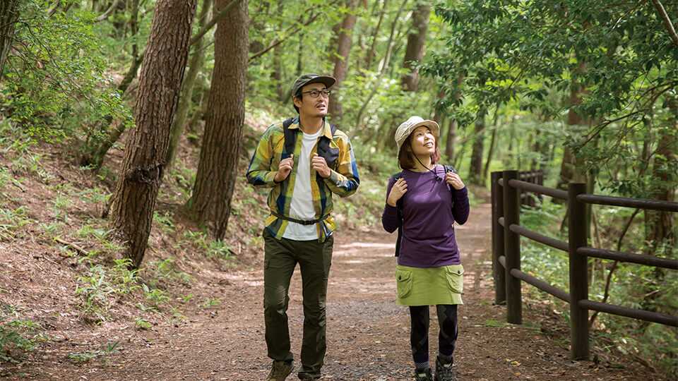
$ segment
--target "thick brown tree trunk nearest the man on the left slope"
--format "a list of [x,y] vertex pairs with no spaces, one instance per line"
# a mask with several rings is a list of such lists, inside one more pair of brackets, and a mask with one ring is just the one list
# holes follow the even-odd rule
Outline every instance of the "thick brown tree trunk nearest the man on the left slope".
[[[217,0],[218,9],[229,0]],[[240,1],[219,21],[215,32],[214,71],[208,100],[203,146],[196,184],[189,201],[194,219],[206,224],[216,239],[223,239],[231,211],[231,198],[245,118],[248,48],[248,1]]]

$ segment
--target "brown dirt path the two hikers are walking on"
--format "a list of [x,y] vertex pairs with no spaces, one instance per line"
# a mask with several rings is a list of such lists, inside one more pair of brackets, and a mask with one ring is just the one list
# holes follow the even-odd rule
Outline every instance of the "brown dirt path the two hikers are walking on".
[[[504,307],[492,306],[489,214],[489,205],[479,205],[469,222],[457,227],[466,267],[456,349],[460,379],[650,379],[638,369],[634,376],[629,370],[569,361],[562,342],[540,333],[537,322],[545,317],[532,308],[524,311],[528,324],[501,324],[506,321]],[[395,304],[394,239],[382,231],[338,231],[328,290],[323,380],[410,379],[408,310]],[[45,363],[39,375],[32,374],[36,379],[68,380],[263,380],[270,360],[263,340],[261,270],[203,275],[215,279],[212,286],[222,300],[220,306],[198,311],[185,324],[160,325],[143,334],[120,327],[120,352],[107,361]],[[303,319],[299,281],[297,271],[288,311],[295,356]],[[430,351],[436,353],[434,318],[430,334]]]

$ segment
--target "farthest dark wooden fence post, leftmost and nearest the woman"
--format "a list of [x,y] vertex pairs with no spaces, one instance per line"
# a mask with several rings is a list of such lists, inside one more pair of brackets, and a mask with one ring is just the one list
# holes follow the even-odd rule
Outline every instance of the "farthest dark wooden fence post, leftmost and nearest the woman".
[[499,224],[499,217],[504,216],[504,193],[499,186],[501,171],[492,172],[492,275],[494,276],[494,304],[506,303],[506,277],[504,266],[499,257],[504,255],[504,226]]

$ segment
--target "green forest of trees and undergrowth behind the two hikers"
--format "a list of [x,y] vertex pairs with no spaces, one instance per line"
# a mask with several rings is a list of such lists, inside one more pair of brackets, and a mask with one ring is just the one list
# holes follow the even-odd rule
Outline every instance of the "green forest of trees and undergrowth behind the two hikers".
[[[171,237],[175,252],[226,268],[259,252],[266,193],[244,169],[266,126],[295,115],[290,87],[307,72],[337,78],[330,121],[359,162],[357,195],[337,203],[343,229],[379,223],[393,133],[412,115],[438,121],[441,162],[477,198],[490,172],[518,169],[673,201],[677,20],[667,0],[6,0],[0,241],[77,262],[69,295],[86,321],[112,319],[126,294],[143,313],[177,308],[170,284],[190,274],[147,247]],[[567,236],[564,205],[524,213],[521,224]],[[593,207],[589,220],[595,247],[678,258],[670,213]],[[566,254],[525,242],[523,255],[566,288]],[[589,267],[591,299],[677,314],[675,272]],[[40,347],[38,315],[0,304],[0,361]],[[606,314],[591,325],[597,346],[678,375],[675,329]]]

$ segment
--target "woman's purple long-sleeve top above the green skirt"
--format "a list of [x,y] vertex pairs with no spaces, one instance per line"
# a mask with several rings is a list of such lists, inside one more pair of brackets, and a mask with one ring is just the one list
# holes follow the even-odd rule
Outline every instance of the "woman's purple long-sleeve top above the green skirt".
[[[448,186],[444,181],[445,167],[436,165],[435,171],[436,174],[403,170],[408,191],[401,201],[402,221],[396,207],[387,203],[383,208],[383,229],[393,233],[403,224],[398,265],[441,267],[460,264],[453,224],[464,224],[468,219],[468,191],[466,188],[457,191]],[[393,177],[388,180],[386,198],[395,182]]]

